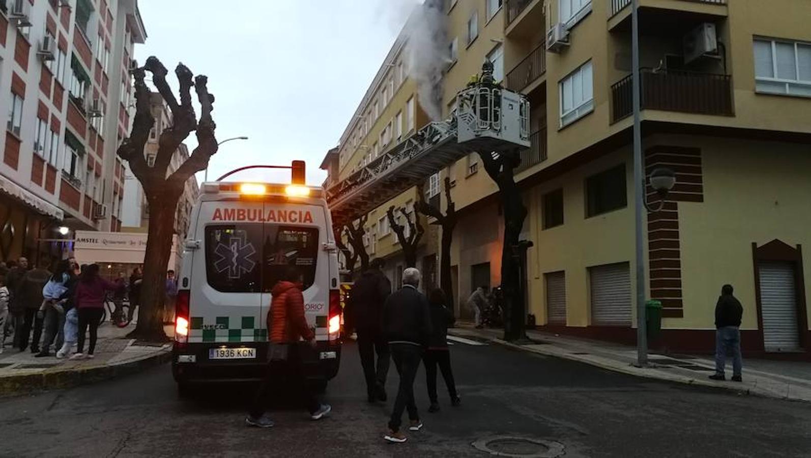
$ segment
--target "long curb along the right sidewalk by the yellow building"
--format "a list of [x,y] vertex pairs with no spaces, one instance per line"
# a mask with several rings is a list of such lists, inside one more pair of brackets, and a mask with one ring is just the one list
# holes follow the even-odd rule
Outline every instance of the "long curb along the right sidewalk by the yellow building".
[[[457,332],[454,332],[454,331],[455,330],[453,330],[453,329],[448,329],[448,334],[452,334],[454,336],[467,336],[467,337],[470,337],[470,334],[457,333]],[[642,377],[642,378],[645,378],[645,379],[659,380],[660,382],[671,382],[671,383],[680,383],[680,384],[683,384],[683,385],[690,385],[690,386],[700,386],[700,387],[714,388],[714,389],[717,389],[717,390],[723,390],[725,392],[732,392],[732,393],[735,393],[735,394],[737,394],[739,396],[742,396],[742,395],[762,396],[762,397],[771,398],[771,399],[790,400],[790,401],[795,401],[795,402],[809,403],[809,400],[805,400],[805,399],[802,399],[802,398],[789,397],[789,396],[778,396],[778,395],[772,394],[770,392],[753,391],[749,387],[746,387],[746,388],[727,387],[725,385],[719,385],[719,384],[715,384],[715,383],[712,383],[712,382],[707,382],[707,381],[702,380],[702,379],[693,379],[693,378],[679,376],[679,375],[673,375],[671,377],[663,377],[661,375],[651,374],[650,372],[647,372],[646,370],[636,368],[636,367],[633,367],[633,366],[628,366],[628,367],[616,366],[616,365],[606,364],[604,362],[594,361],[593,359],[590,359],[590,358],[579,357],[579,355],[570,355],[570,354],[548,352],[548,351],[543,351],[541,349],[530,349],[530,348],[527,348],[526,346],[523,346],[523,345],[511,344],[506,340],[499,339],[498,337],[482,336],[480,334],[475,334],[475,335],[478,336],[481,339],[487,340],[488,342],[492,342],[494,344],[502,345],[502,346],[508,347],[510,349],[517,349],[517,350],[525,351],[525,352],[528,352],[528,353],[536,353],[536,354],[540,354],[540,355],[543,355],[543,356],[557,357],[559,359],[565,359],[565,360],[569,360],[569,361],[573,361],[573,362],[580,362],[582,364],[588,364],[590,366],[599,367],[600,369],[603,369],[603,370],[611,370],[612,372],[619,372],[620,374],[633,375],[633,376]]]

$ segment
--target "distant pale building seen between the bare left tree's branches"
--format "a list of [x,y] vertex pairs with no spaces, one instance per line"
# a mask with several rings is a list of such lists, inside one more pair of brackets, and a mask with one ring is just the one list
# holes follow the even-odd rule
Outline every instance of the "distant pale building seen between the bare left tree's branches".
[[[144,147],[144,156],[147,165],[152,167],[157,157],[158,140],[161,138],[161,133],[172,124],[172,112],[158,92],[151,93],[150,101],[155,125],[152,126],[152,131],[149,131],[149,138]],[[186,143],[180,143],[180,147],[172,156],[172,161],[169,162],[167,173],[174,173],[188,158],[189,149]],[[144,195],[144,188],[138,178],[135,178],[135,175],[131,172],[129,163],[124,165],[123,195],[122,232],[148,232],[149,207]],[[178,207],[174,215],[174,233],[178,234],[178,240],[180,241],[184,240],[188,233],[191,207],[195,204],[198,195],[200,195],[200,185],[197,183],[197,178],[192,176],[187,180],[183,194],[178,199]]]

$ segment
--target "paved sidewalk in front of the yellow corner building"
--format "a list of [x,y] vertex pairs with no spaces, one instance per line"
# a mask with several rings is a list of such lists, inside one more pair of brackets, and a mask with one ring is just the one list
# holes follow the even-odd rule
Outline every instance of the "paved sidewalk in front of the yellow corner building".
[[[665,356],[650,353],[648,361],[651,367],[640,368],[633,366],[637,362],[637,350],[634,347],[612,342],[527,331],[527,336],[537,343],[513,345],[501,340],[504,334],[501,329],[475,329],[472,323],[458,322],[456,328],[448,329],[448,333],[483,338],[533,353],[585,362],[603,369],[650,379],[722,387],[735,392],[780,399],[811,401],[809,362],[744,359],[743,383],[719,382],[707,378],[714,374],[715,362],[705,356]],[[727,362],[728,372],[732,371],[731,363],[731,360]],[[729,375],[731,374],[727,373],[727,377]]]

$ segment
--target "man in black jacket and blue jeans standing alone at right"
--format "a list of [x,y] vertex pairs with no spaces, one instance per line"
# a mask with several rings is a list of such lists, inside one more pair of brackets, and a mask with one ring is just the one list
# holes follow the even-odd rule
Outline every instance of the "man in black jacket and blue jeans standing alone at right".
[[726,380],[724,367],[727,365],[727,351],[732,352],[732,381],[742,382],[740,372],[743,357],[740,356],[740,318],[744,307],[732,295],[732,285],[723,285],[721,296],[715,304],[715,374],[713,380]]

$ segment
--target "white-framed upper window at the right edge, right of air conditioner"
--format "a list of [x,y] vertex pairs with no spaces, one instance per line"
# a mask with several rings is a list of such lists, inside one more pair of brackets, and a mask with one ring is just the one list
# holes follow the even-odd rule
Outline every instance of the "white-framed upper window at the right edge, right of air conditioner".
[[811,96],[811,43],[754,41],[757,92]]

